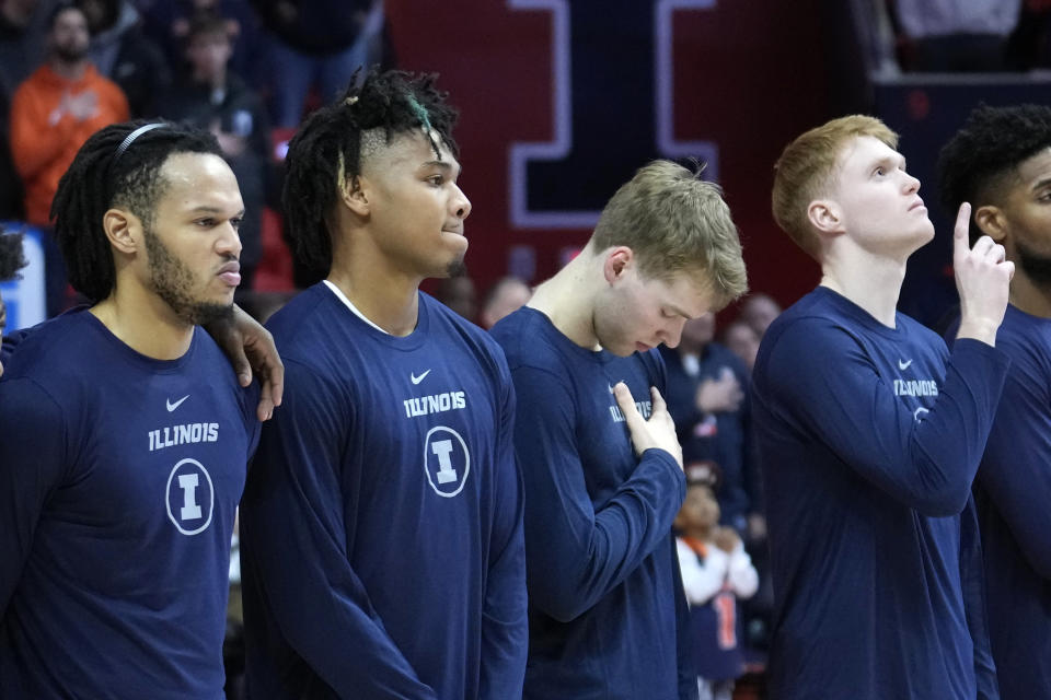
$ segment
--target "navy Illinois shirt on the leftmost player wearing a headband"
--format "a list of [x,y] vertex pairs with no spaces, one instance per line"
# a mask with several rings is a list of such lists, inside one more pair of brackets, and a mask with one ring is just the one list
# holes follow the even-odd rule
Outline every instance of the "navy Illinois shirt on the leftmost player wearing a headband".
[[19,340],[0,380],[0,697],[220,700],[257,389],[199,328],[171,361],[86,311]]

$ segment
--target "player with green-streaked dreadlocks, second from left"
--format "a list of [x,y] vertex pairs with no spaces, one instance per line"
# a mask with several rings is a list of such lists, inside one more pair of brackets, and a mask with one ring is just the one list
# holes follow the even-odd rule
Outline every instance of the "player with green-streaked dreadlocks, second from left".
[[290,144],[296,255],[324,279],[268,323],[290,392],[242,503],[256,697],[521,695],[513,387],[418,289],[467,247],[454,116],[434,77],[373,71]]

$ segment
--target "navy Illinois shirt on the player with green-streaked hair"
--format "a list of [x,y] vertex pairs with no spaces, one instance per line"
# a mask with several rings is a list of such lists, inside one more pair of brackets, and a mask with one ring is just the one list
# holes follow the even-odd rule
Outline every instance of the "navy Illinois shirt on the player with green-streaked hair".
[[406,337],[320,283],[242,503],[249,695],[504,700],[527,653],[515,392],[500,349],[419,295]]

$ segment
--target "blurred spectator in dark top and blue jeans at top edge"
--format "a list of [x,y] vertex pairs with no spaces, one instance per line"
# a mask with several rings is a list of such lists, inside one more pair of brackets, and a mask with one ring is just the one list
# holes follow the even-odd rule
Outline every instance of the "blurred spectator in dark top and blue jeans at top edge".
[[311,88],[327,103],[382,54],[382,0],[252,0],[269,36],[278,128],[299,125]]

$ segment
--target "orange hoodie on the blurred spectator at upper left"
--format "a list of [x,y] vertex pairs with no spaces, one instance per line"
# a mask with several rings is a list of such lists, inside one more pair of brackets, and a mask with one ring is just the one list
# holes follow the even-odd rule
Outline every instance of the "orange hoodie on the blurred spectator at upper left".
[[[93,117],[78,121],[58,112],[63,94],[88,91],[99,100]],[[26,221],[50,224],[51,198],[77,151],[99,129],[127,118],[124,93],[94,66],[88,66],[79,80],[67,80],[45,63],[19,85],[11,101],[11,154],[25,185]]]

